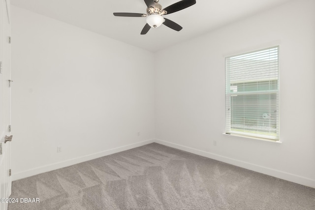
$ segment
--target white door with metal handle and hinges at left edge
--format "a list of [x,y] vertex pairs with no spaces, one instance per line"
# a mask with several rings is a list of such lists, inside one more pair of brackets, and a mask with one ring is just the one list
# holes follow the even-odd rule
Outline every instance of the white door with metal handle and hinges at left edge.
[[[10,0],[0,0],[0,198],[11,195],[10,177]],[[7,203],[0,202],[0,210],[6,210]]]

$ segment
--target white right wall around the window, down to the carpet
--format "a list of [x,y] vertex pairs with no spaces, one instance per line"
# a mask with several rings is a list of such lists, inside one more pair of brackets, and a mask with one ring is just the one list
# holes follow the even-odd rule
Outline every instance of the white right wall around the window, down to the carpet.
[[[314,0],[289,1],[158,52],[157,141],[315,187],[314,8]],[[224,56],[277,44],[283,144],[223,135]]]

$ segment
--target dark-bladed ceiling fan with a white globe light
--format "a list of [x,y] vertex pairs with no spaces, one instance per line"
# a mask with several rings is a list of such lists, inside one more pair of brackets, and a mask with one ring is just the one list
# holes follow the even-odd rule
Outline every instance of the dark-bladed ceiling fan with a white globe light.
[[171,20],[163,18],[162,15],[177,12],[196,3],[196,0],[181,0],[162,9],[162,6],[158,3],[158,1],[159,0],[144,0],[147,5],[147,14],[114,12],[114,15],[120,17],[147,17],[147,24],[142,29],[141,34],[146,34],[151,29],[151,27],[157,28],[162,24],[173,30],[180,31],[183,29],[183,27]]

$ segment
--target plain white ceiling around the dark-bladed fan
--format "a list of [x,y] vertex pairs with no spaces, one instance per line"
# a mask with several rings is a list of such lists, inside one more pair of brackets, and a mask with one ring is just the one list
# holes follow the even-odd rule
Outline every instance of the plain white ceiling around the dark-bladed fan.
[[[179,0],[159,0],[163,8]],[[196,4],[166,15],[183,27],[164,25],[140,32],[142,17],[115,17],[113,12],[146,13],[144,0],[11,0],[11,4],[155,52],[289,0],[196,0]]]

